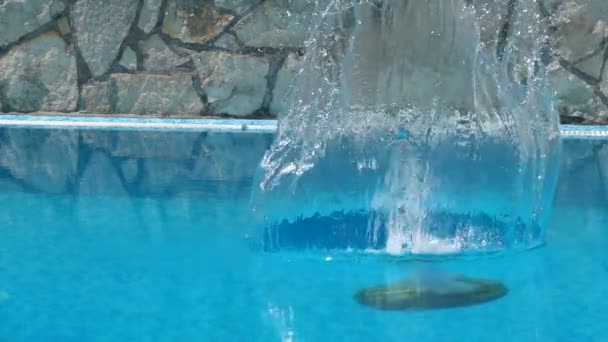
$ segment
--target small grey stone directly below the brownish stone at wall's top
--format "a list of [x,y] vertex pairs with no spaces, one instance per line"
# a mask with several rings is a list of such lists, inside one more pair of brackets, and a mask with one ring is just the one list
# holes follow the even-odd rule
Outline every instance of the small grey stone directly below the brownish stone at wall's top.
[[171,51],[158,35],[140,42],[139,49],[144,55],[144,69],[148,71],[172,71],[189,60]]

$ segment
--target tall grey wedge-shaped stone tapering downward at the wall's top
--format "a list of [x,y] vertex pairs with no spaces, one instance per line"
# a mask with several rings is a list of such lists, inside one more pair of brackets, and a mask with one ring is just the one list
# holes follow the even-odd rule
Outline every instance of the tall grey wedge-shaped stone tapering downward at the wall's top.
[[78,0],[72,23],[78,47],[93,76],[105,74],[116,59],[137,14],[137,0]]

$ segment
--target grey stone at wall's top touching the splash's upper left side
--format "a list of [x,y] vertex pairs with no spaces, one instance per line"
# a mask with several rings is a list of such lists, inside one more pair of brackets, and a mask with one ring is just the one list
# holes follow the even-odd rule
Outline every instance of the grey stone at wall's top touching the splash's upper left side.
[[314,1],[268,0],[235,25],[237,37],[253,47],[298,48],[312,25]]

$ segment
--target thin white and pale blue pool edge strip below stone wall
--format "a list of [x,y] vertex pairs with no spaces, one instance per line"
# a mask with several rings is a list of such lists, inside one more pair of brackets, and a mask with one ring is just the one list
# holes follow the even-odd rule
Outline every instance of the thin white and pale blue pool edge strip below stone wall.
[[[274,119],[103,117],[96,115],[2,114],[0,127],[98,130],[163,130],[275,133]],[[560,125],[564,139],[608,138],[608,126]]]

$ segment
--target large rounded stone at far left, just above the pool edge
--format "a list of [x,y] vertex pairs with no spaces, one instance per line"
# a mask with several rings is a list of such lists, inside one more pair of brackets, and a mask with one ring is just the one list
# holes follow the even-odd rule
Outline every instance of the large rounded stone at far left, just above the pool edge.
[[78,103],[76,59],[49,32],[0,58],[0,92],[10,110],[72,112]]

